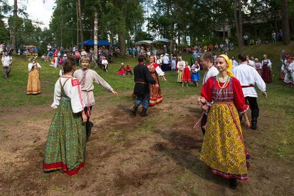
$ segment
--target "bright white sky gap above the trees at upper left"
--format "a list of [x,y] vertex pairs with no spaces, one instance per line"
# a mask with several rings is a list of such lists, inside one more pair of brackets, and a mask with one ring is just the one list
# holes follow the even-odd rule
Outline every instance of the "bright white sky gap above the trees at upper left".
[[[10,5],[13,5],[14,0],[8,0]],[[45,25],[40,25],[41,28],[49,27],[50,19],[53,14],[53,6],[56,6],[54,0],[18,0],[18,7],[21,4],[26,5],[26,13],[29,15],[29,19],[33,21],[39,21]]]

